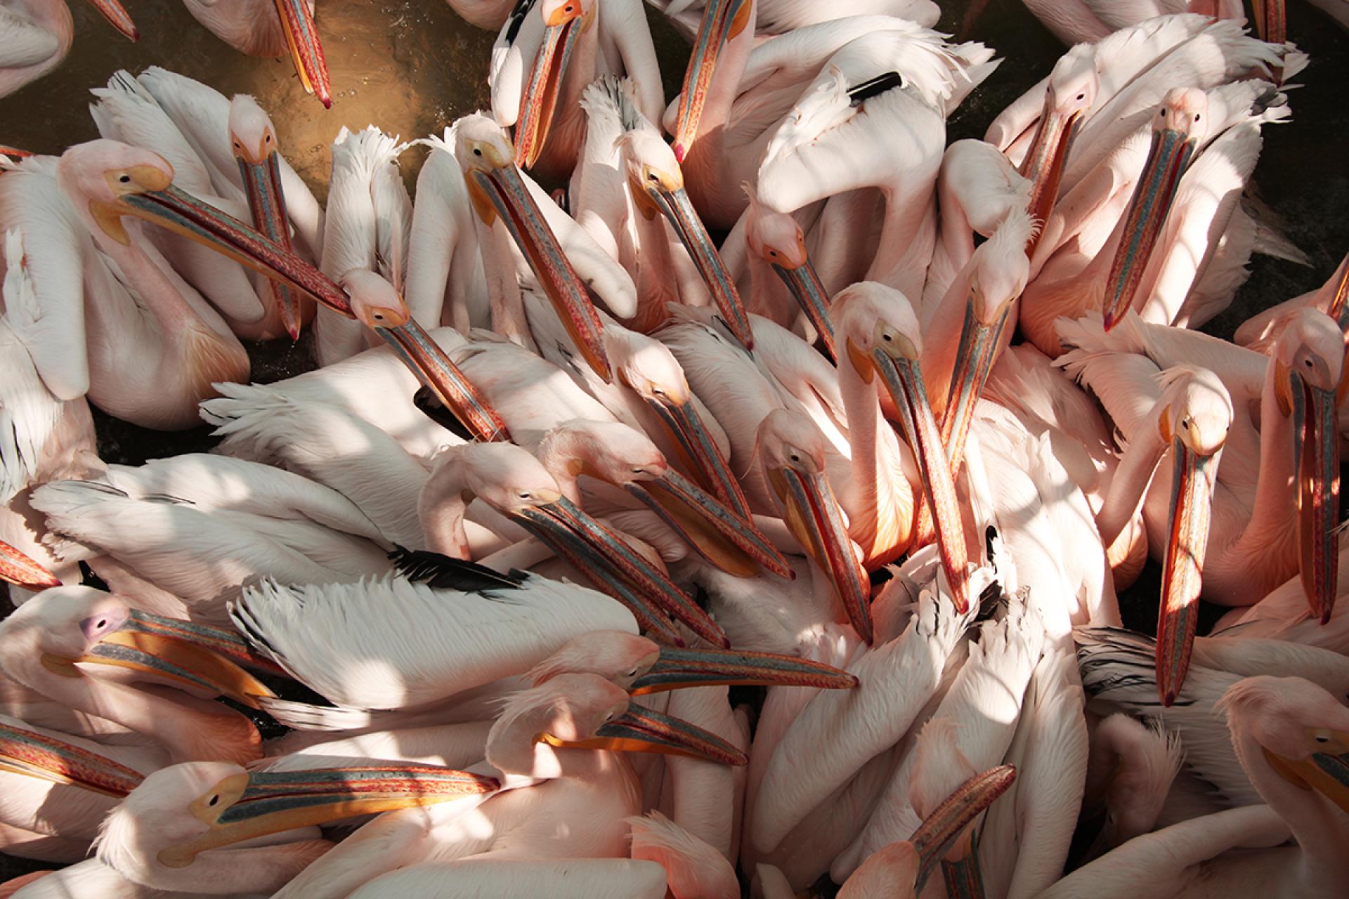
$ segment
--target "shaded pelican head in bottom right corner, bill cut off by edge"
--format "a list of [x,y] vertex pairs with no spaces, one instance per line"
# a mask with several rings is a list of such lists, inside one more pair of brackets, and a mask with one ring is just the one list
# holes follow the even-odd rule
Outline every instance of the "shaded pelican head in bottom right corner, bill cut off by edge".
[[1349,811],[1349,709],[1302,678],[1259,675],[1228,687],[1215,706],[1242,766],[1259,770],[1260,749],[1279,776],[1315,790]]

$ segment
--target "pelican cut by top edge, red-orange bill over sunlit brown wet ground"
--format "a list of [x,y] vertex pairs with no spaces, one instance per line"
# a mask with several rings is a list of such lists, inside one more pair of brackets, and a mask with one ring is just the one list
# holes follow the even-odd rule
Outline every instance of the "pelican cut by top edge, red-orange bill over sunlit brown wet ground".
[[290,55],[305,93],[333,105],[314,0],[183,0],[213,35],[250,57]]

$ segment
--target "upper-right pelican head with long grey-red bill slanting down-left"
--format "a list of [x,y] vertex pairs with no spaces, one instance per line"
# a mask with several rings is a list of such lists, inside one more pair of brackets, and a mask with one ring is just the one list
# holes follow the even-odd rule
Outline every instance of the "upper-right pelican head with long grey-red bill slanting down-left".
[[1152,147],[1121,221],[1121,239],[1106,276],[1102,315],[1110,330],[1133,305],[1167,214],[1209,128],[1209,97],[1198,88],[1172,88],[1152,117]]

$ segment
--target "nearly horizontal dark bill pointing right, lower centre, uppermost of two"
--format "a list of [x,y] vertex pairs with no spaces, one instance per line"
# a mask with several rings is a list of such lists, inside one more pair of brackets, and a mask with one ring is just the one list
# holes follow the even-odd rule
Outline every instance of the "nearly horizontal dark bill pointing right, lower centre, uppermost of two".
[[834,666],[792,655],[737,650],[661,647],[656,664],[633,681],[629,693],[645,695],[683,687],[755,685],[851,690],[857,677]]

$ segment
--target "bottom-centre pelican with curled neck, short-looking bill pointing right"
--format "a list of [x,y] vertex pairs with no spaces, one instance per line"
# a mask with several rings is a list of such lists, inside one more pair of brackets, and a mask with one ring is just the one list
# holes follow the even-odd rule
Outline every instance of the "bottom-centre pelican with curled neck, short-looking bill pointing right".
[[[560,674],[509,697],[492,724],[486,763],[500,772],[500,793],[464,810],[383,815],[277,899],[340,899],[384,872],[468,857],[627,859],[627,818],[641,810],[631,752],[745,764],[724,740],[633,704],[600,677]],[[583,826],[556,826],[563,819]],[[409,875],[394,875],[395,884],[401,876]]]

